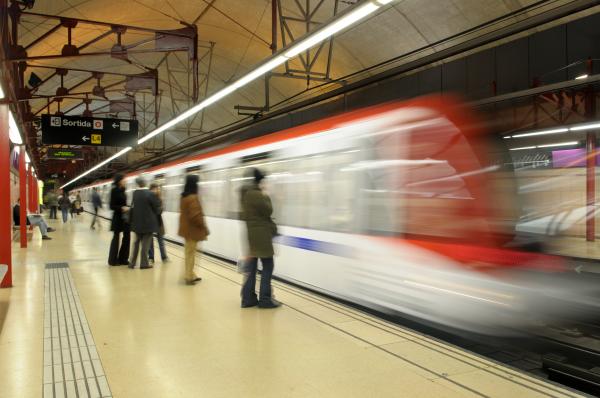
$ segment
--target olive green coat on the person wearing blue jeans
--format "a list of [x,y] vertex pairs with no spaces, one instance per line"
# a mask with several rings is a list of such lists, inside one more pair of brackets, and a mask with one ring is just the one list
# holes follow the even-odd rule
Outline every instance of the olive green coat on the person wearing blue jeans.
[[248,254],[250,257],[273,257],[273,236],[277,226],[271,219],[271,199],[262,193],[257,184],[246,185],[240,192],[242,220],[248,230]]

